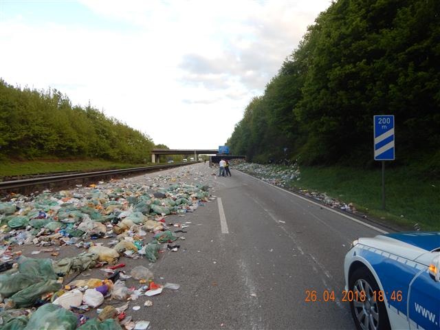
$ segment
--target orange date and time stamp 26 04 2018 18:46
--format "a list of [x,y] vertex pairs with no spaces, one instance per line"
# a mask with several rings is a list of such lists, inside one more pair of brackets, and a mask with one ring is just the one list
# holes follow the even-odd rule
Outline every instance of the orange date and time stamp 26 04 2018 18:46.
[[368,296],[364,291],[351,291],[351,290],[343,290],[340,299],[336,298],[335,292],[333,290],[324,290],[321,294],[316,290],[305,290],[305,299],[306,303],[328,303],[335,300],[340,300],[342,302],[351,302],[351,301],[384,301],[385,298],[387,300],[393,301],[401,301],[401,291],[392,291],[392,292],[384,292],[382,290],[371,291]]

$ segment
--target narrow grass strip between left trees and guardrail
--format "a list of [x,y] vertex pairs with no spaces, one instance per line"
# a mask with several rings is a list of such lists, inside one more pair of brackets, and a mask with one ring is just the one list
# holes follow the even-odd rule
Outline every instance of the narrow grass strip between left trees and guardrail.
[[32,161],[0,160],[0,177],[15,177],[20,175],[37,175],[43,173],[76,172],[87,170],[113,170],[148,166],[150,164],[115,163],[100,159],[42,159]]

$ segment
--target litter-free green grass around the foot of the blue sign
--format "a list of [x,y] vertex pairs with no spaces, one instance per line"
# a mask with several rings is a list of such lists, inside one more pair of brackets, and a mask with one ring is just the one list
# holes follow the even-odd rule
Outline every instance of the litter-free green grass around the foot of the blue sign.
[[360,212],[411,230],[440,230],[440,180],[406,168],[386,168],[386,210],[382,210],[382,170],[342,167],[301,167],[295,188],[326,192],[353,203]]

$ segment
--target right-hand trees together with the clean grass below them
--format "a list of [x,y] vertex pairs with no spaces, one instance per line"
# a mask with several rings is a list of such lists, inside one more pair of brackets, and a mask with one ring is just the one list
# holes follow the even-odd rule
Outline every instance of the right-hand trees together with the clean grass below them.
[[[440,2],[333,1],[228,139],[250,162],[297,162],[296,188],[405,228],[440,230]],[[373,115],[395,115],[395,156],[373,160]]]

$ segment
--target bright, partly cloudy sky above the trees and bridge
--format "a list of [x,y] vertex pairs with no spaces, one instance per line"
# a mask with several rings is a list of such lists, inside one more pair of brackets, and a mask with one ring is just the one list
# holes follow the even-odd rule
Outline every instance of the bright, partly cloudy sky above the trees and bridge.
[[90,102],[155,144],[217,148],[330,3],[0,0],[0,78]]

